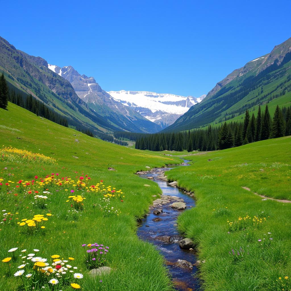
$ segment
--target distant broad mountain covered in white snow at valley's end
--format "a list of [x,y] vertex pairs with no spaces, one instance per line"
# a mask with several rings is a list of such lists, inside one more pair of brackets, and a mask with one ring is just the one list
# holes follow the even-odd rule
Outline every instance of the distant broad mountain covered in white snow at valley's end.
[[173,124],[191,106],[202,101],[206,95],[198,98],[173,94],[159,94],[147,91],[109,91],[115,100],[132,107],[142,116],[163,128]]

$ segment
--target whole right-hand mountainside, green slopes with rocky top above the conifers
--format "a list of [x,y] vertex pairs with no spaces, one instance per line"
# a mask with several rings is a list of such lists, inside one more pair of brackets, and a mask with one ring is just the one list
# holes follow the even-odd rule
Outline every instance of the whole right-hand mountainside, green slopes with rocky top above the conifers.
[[273,101],[275,105],[283,106],[290,102],[289,96],[291,38],[276,45],[269,54],[254,58],[231,72],[216,84],[201,103],[191,107],[164,131],[188,130],[242,119],[246,109],[255,110],[259,104]]

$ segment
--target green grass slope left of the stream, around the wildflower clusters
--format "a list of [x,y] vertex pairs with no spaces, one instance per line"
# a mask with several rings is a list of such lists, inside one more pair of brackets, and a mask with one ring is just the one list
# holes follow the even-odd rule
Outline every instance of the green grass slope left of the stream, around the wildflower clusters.
[[[114,207],[121,211],[119,217],[102,217],[102,212],[95,211],[92,207],[99,197],[86,194],[82,216],[78,221],[72,222],[61,219],[70,209],[68,203],[65,203],[67,192],[53,193],[48,200],[48,209],[43,212],[31,207],[31,197],[22,198],[19,195],[15,198],[11,194],[11,198],[2,190],[1,211],[6,210],[14,214],[18,211],[19,214],[15,216],[19,219],[33,216],[32,214],[47,213],[48,210],[51,210],[53,216],[47,221],[43,236],[24,235],[15,223],[5,226],[2,224],[1,258],[6,257],[7,250],[15,246],[29,251],[38,248],[41,250],[39,255],[46,258],[55,253],[64,257],[73,256],[74,262],[80,267],[79,271],[84,273],[83,290],[92,291],[98,289],[96,283],[86,275],[80,246],[83,243],[99,242],[110,247],[107,265],[114,269],[109,276],[102,277],[102,290],[169,290],[170,280],[163,267],[162,257],[152,245],[140,241],[136,236],[136,218],[148,210],[152,195],[160,193],[160,189],[155,182],[142,180],[134,173],[145,170],[145,166],[175,164],[180,160],[91,138],[37,117],[11,103],[8,109],[9,111],[0,109],[1,146],[11,145],[40,152],[57,159],[58,165],[0,162],[0,177],[18,181],[31,180],[35,175],[44,177],[56,172],[60,173],[60,176],[72,178],[84,173],[91,176],[92,184],[104,180],[106,186],[122,189],[125,200],[124,203],[112,202]],[[8,169],[4,170],[4,167]],[[108,167],[113,167],[116,171],[108,171]],[[8,173],[13,173],[14,176],[8,176]],[[144,187],[143,184],[150,184],[151,187]],[[16,207],[15,204],[21,201],[23,207]],[[29,206],[29,209],[26,209],[26,206]],[[5,267],[2,265],[0,268],[0,290],[16,290],[16,282],[19,281],[15,278],[3,278],[7,269]],[[99,280],[100,278],[97,282]]]

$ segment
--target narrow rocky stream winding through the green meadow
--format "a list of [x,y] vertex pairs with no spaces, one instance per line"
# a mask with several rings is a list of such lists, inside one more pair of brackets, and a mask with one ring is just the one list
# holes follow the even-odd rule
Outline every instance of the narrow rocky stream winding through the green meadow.
[[[187,162],[187,160],[184,160],[186,164],[179,166],[188,166]],[[157,182],[162,189],[162,195],[176,196],[178,199],[183,199],[187,205],[186,209],[189,209],[195,206],[194,198],[185,194],[178,187],[168,185],[165,180],[161,179],[165,171],[176,167],[177,165],[168,166],[167,168],[155,168],[152,171],[140,174],[140,177],[145,179],[153,177],[152,180]],[[179,241],[184,237],[179,234],[176,223],[178,215],[183,210],[171,208],[170,205],[173,202],[175,201],[162,204],[162,206],[150,207],[149,214],[141,221],[137,235],[141,239],[154,244],[157,250],[164,256],[166,267],[173,278],[176,290],[198,290],[200,288],[199,280],[193,276],[197,272],[195,250],[185,250],[179,246]],[[154,209],[161,208],[162,213],[158,215],[153,214]],[[156,221],[153,221],[153,219]]]

